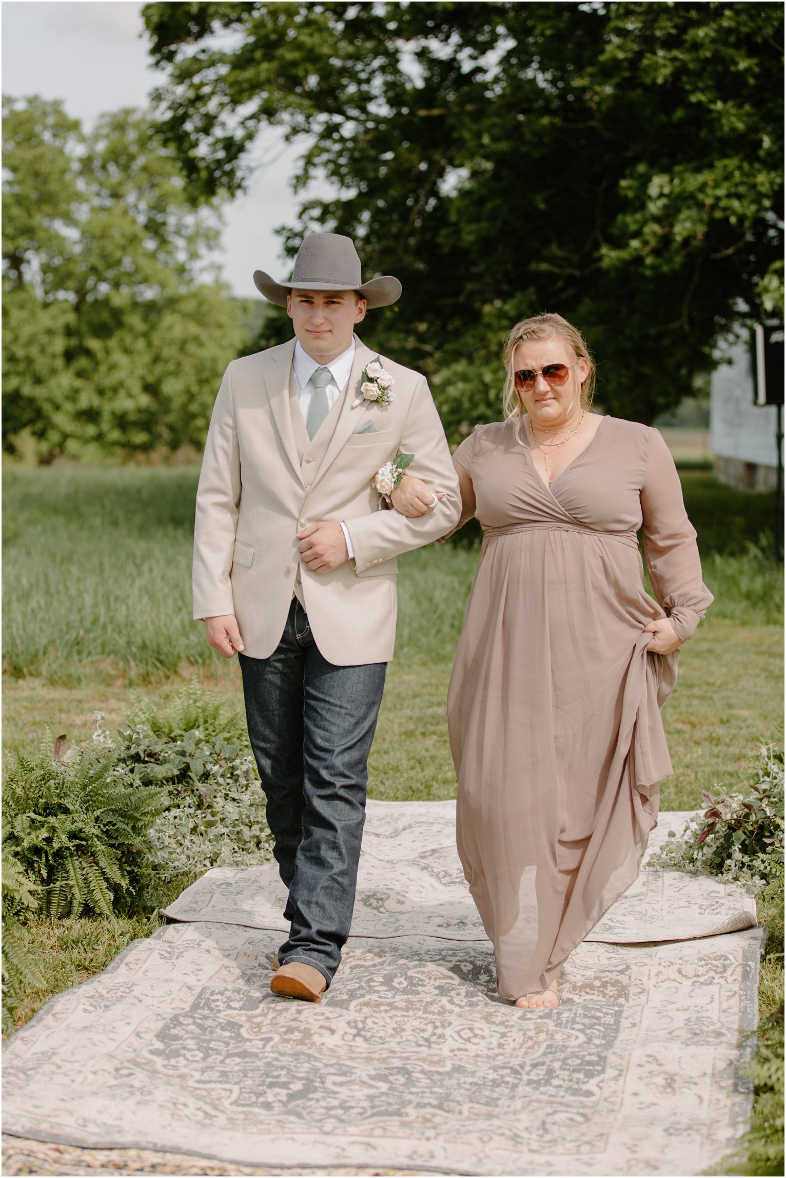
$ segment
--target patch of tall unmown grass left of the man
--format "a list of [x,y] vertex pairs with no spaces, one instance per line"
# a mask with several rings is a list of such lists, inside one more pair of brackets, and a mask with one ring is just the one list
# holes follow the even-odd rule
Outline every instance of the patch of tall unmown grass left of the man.
[[148,682],[220,656],[191,621],[193,469],[4,476],[4,668],[48,683]]

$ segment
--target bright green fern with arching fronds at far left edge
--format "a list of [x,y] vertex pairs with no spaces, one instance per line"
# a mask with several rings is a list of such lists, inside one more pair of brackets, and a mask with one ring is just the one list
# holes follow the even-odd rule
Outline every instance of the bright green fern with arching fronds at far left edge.
[[140,786],[118,766],[112,744],[87,742],[65,761],[47,733],[38,760],[19,754],[8,773],[4,851],[40,886],[47,915],[112,916],[144,887],[149,830],[167,801],[166,789]]

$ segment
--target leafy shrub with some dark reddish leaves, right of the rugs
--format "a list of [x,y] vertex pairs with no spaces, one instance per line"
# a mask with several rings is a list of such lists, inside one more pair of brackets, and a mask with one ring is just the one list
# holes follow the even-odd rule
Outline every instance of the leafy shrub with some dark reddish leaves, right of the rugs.
[[708,808],[673,830],[650,867],[710,872],[758,893],[781,871],[784,858],[784,753],[764,746],[750,794],[702,794]]

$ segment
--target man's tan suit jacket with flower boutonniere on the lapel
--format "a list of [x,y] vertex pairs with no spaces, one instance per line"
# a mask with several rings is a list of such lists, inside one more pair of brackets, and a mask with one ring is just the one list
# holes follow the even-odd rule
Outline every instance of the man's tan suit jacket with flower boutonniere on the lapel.
[[[461,498],[425,377],[386,357],[388,406],[362,402],[361,373],[375,352],[357,339],[349,383],[308,441],[291,383],[294,339],[229,364],[213,409],[196,492],[194,617],[234,614],[252,659],[284,633],[298,573],[319,650],[337,666],[387,662],[395,642],[399,552],[455,525]],[[358,432],[373,422],[377,430]],[[418,519],[380,510],[371,479],[398,454],[445,498]],[[297,531],[344,521],[354,560],[333,573],[300,564]]]

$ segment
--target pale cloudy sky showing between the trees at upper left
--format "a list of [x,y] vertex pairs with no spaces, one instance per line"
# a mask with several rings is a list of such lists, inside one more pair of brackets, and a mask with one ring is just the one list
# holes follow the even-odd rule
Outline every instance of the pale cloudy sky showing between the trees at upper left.
[[[133,0],[4,0],[2,92],[59,98],[89,127],[98,114],[146,106],[161,74],[148,67],[141,4]],[[275,226],[294,221],[288,187],[299,154],[274,127],[264,130],[254,158],[271,160],[254,172],[247,194],[225,207],[220,263],[235,294],[261,298],[254,270],[284,279]],[[313,190],[309,190],[313,191]],[[299,198],[300,199],[300,198]]]

